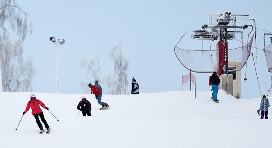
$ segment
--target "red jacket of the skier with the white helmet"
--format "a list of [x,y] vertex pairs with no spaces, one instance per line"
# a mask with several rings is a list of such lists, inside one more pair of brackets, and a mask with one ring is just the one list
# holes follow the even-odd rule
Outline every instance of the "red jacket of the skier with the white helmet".
[[29,102],[27,102],[25,113],[29,110],[29,107],[32,110],[31,112],[32,114],[39,114],[43,112],[42,109],[40,108],[40,105],[43,108],[46,108],[45,104],[41,100],[38,100],[38,99],[30,100]]

